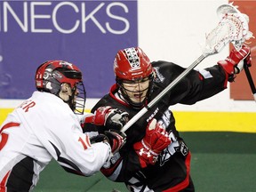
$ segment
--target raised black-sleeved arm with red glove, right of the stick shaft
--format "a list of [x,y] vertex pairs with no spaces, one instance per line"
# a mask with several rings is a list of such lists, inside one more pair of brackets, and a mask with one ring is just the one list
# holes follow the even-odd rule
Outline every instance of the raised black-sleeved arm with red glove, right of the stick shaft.
[[[176,86],[175,95],[170,98],[178,98],[179,103],[194,104],[199,100],[204,100],[213,95],[222,92],[227,88],[228,81],[233,82],[236,74],[243,69],[243,60],[248,60],[248,66],[251,65],[251,53],[248,46],[243,45],[237,52],[235,49],[230,52],[225,60],[218,61],[217,65],[211,68],[192,70],[181,82],[183,86]],[[180,88],[181,87],[181,88]],[[180,90],[184,89],[186,90]],[[174,91],[173,91],[174,92]]]

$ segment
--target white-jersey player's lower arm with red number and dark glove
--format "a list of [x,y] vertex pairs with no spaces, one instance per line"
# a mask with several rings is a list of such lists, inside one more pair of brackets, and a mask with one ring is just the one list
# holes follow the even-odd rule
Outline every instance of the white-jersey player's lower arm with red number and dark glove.
[[125,137],[116,132],[105,132],[102,136],[102,139],[95,141],[94,137],[78,132],[76,128],[59,135],[58,140],[65,141],[61,145],[51,143],[57,162],[71,173],[90,176],[99,172],[102,166],[109,164],[111,157],[125,142]]

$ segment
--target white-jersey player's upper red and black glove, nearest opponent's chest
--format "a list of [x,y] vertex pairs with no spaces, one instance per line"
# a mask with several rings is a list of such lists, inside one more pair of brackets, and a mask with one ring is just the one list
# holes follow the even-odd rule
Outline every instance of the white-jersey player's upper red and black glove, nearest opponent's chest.
[[127,112],[109,106],[98,108],[94,115],[94,124],[105,125],[108,129],[117,131],[120,131],[128,122],[129,116]]

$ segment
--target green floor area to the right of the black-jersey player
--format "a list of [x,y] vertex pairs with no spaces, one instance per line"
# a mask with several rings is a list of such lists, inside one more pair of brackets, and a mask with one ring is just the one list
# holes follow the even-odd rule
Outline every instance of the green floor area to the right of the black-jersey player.
[[256,134],[181,132],[181,136],[192,151],[196,191],[256,191]]

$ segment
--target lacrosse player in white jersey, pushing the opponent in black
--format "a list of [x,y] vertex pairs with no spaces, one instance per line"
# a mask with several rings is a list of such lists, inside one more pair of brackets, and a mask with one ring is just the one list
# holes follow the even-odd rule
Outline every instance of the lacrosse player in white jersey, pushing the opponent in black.
[[116,132],[104,132],[97,143],[82,132],[80,124],[115,124],[111,118],[118,111],[82,115],[86,95],[76,65],[63,60],[44,62],[36,70],[36,89],[0,128],[1,192],[31,191],[52,158],[67,172],[90,176],[109,164],[124,144]]

